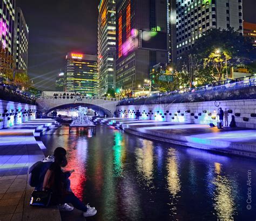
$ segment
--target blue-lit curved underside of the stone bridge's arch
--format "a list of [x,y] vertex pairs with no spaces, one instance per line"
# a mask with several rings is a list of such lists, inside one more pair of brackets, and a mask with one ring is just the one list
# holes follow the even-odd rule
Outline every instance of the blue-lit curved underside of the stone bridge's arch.
[[50,112],[57,110],[57,109],[69,109],[69,108],[78,108],[79,106],[83,106],[86,107],[88,109],[92,109],[93,111],[96,111],[97,113],[99,113],[100,116],[107,116],[107,117],[112,117],[112,113],[105,109],[102,108],[101,106],[95,105],[95,104],[86,104],[86,103],[69,103],[69,104],[63,104],[63,105],[59,105],[59,106],[55,106],[51,109],[49,109],[48,111],[45,112],[45,115],[48,115]]

